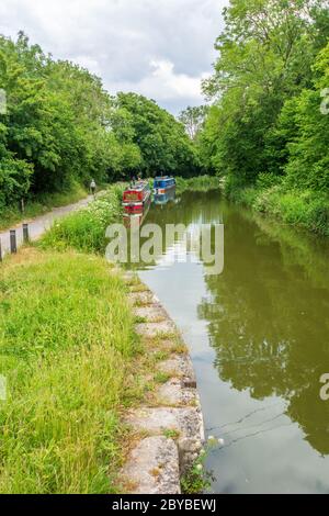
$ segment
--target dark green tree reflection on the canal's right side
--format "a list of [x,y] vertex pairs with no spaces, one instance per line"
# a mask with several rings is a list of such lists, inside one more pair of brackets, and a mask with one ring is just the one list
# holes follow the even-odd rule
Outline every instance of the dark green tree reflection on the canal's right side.
[[227,210],[226,268],[205,277],[211,298],[198,309],[209,322],[219,377],[257,400],[286,400],[286,414],[328,455],[329,404],[319,397],[319,378],[329,367],[329,279],[327,269],[321,279],[318,269],[313,274],[322,255],[306,253],[304,235],[302,255],[280,239],[277,226],[274,236],[261,218]]

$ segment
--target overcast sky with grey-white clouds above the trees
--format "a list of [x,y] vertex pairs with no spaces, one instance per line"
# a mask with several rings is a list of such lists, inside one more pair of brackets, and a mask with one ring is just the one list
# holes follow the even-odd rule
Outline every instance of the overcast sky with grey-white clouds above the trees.
[[203,103],[228,0],[0,0],[0,33],[23,30],[55,58],[177,114]]

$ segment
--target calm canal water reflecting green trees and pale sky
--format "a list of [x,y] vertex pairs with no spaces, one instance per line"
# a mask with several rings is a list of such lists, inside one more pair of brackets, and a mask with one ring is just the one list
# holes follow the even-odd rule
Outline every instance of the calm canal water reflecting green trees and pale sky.
[[225,268],[170,263],[181,243],[139,265],[189,344],[208,436],[215,493],[329,493],[328,239],[185,193],[147,223],[224,223]]

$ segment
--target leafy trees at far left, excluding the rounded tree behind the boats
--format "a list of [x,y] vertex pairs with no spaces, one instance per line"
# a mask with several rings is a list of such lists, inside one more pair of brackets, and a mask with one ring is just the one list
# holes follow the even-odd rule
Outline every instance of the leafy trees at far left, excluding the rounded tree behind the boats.
[[0,155],[9,156],[1,159],[2,168],[11,176],[18,170],[14,198],[7,204],[27,192],[61,191],[72,180],[106,177],[104,120],[111,102],[99,79],[69,63],[54,61],[20,34],[15,43],[0,37],[0,87],[7,93]]

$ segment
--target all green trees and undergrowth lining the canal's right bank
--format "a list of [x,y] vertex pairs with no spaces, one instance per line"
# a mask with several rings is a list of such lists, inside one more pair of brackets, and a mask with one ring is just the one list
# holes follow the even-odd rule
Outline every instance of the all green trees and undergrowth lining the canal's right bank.
[[198,138],[204,167],[226,177],[230,199],[321,233],[329,194],[328,12],[324,0],[231,0],[215,72],[204,83],[214,104]]

